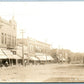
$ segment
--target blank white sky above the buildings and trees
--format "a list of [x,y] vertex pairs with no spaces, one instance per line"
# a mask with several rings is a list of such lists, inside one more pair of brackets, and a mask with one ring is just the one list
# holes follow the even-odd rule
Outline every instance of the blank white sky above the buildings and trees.
[[84,2],[0,2],[0,17],[17,23],[17,38],[32,37],[53,48],[84,52]]

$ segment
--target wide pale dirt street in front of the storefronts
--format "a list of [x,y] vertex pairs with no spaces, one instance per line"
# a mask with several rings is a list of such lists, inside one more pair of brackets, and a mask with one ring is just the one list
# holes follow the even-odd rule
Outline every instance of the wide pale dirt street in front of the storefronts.
[[84,82],[84,65],[45,64],[2,67],[0,82]]

